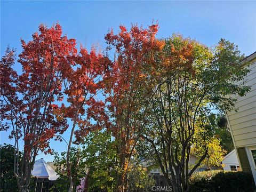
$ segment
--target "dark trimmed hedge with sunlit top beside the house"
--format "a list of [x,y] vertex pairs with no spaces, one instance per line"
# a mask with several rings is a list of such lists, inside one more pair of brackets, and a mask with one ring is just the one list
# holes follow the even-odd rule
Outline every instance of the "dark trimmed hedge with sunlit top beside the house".
[[251,192],[254,189],[252,175],[242,171],[203,171],[190,178],[191,192]]

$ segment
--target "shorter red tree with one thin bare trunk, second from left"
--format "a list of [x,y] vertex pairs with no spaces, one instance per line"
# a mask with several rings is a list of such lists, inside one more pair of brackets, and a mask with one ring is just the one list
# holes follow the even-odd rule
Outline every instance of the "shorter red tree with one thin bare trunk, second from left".
[[[100,129],[102,122],[105,122],[105,105],[96,97],[102,90],[104,71],[108,69],[110,63],[102,54],[97,53],[97,50],[92,49],[89,53],[82,46],[74,61],[74,66],[69,66],[69,70],[63,71],[65,76],[64,92],[70,103],[68,107],[63,107],[63,109],[65,108],[66,116],[71,118],[72,122],[67,149],[69,191],[73,191],[74,188],[69,157],[75,128],[76,126],[80,128],[76,131],[77,140],[79,140],[91,130]],[[97,122],[92,123],[93,120]]]

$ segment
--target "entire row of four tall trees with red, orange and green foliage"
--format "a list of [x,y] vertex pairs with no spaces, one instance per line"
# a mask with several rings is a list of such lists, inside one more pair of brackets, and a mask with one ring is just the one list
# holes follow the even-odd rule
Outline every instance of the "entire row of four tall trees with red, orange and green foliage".
[[[20,191],[28,189],[38,151],[51,153],[50,139],[59,139],[57,135],[67,129],[71,131],[66,157],[69,191],[75,187],[69,163],[72,143],[101,129],[116,141],[121,170],[115,178],[116,191],[127,190],[131,159],[138,143],[145,142],[154,149],[152,158],[173,190],[188,189],[195,129],[208,125],[207,103],[213,95],[222,99],[220,93],[233,89],[223,89],[232,83],[229,80],[246,74],[226,65],[239,61],[240,55],[224,40],[214,52],[180,35],[158,39],[157,23],[119,29],[118,34],[111,30],[105,36],[106,54],[95,47],[77,49],[76,40],[62,35],[58,23],[50,28],[40,25],[31,41],[22,40],[18,63],[14,51],[6,50],[1,60],[0,128],[12,129],[17,150],[20,140],[24,142],[22,162],[15,159],[14,169]],[[114,60],[108,57],[110,50],[115,51]],[[14,63],[22,71],[15,71]],[[206,153],[198,151],[201,162]]]

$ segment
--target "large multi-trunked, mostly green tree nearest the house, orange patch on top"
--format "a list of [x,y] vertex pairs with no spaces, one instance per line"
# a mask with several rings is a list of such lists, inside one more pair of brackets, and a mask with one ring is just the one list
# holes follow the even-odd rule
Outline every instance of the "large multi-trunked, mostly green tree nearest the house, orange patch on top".
[[[235,100],[225,96],[243,96],[249,90],[243,83],[235,84],[248,72],[239,64],[241,58],[237,47],[225,39],[214,50],[180,35],[166,39],[156,68],[162,78],[154,88],[143,138],[153,147],[173,191],[189,191],[189,177],[212,153],[207,145],[216,124],[212,110],[230,110]],[[201,155],[190,167],[195,141],[200,142]]]

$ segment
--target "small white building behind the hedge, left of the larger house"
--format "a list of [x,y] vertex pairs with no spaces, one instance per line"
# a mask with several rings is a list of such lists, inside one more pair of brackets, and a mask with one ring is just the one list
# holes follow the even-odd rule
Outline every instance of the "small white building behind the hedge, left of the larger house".
[[224,171],[239,171],[239,170],[241,170],[235,149],[222,159],[222,164],[224,165],[224,167],[223,167]]

